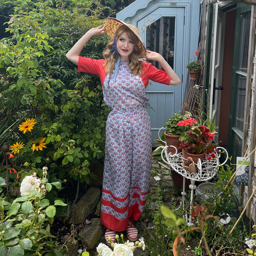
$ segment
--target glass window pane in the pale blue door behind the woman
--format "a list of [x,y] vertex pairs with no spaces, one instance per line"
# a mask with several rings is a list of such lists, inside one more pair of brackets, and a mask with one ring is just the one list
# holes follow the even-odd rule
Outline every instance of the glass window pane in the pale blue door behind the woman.
[[[173,68],[175,17],[161,17],[146,28],[146,49],[160,53]],[[150,61],[158,69],[157,61]]]

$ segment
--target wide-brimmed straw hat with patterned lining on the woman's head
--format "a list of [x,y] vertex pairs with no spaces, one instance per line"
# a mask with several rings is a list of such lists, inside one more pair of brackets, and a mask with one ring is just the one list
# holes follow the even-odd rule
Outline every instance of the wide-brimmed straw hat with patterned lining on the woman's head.
[[121,20],[118,20],[116,18],[107,18],[105,20],[105,29],[108,35],[110,35],[110,37],[114,37],[117,29],[121,26],[121,25],[126,25],[128,28],[130,28],[136,37],[138,37],[139,39],[139,43],[138,43],[138,47],[142,53],[142,55],[144,55],[146,53],[146,46],[144,44],[144,42],[142,41],[142,39],[140,38],[139,35],[139,31],[138,28],[132,24],[127,24]]

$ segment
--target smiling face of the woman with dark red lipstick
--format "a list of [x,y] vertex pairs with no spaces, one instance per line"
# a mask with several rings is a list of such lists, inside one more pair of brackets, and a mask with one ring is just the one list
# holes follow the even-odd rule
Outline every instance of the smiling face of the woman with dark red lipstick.
[[128,37],[126,32],[123,32],[117,39],[116,48],[120,55],[120,60],[129,61],[129,55],[134,49],[134,41]]

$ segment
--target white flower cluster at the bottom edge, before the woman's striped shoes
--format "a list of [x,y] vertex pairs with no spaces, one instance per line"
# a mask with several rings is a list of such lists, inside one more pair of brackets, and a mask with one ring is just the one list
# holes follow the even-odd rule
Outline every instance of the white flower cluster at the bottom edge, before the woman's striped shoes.
[[124,244],[113,244],[113,251],[106,244],[100,243],[97,247],[98,256],[133,256],[134,250],[137,247],[141,247],[145,250],[144,239],[139,239],[135,244],[133,242],[127,241]]

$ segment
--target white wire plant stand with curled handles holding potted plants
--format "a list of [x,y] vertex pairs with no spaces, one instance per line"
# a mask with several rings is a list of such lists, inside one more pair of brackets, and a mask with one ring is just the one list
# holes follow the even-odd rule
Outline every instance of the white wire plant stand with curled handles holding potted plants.
[[[171,154],[168,151],[168,147],[173,147],[175,149],[175,154]],[[187,217],[187,214],[184,214],[184,219],[186,220],[186,223],[188,225],[192,225],[192,203],[193,203],[193,196],[194,196],[194,190],[196,188],[195,182],[206,182],[210,180],[211,178],[214,178],[216,173],[219,170],[219,167],[224,165],[227,160],[228,160],[228,152],[225,148],[221,146],[217,146],[216,149],[216,158],[211,158],[210,160],[207,160],[206,157],[204,157],[203,161],[198,159],[196,165],[196,169],[198,171],[196,173],[190,173],[189,171],[186,171],[182,163],[187,161],[186,158],[183,158],[182,153],[177,153],[177,148],[175,146],[165,146],[161,152],[161,158],[165,163],[170,165],[170,167],[179,173],[180,175],[183,176],[183,191],[182,191],[182,201],[180,204],[180,207],[183,206],[183,211],[185,212],[185,180],[189,179],[191,181],[191,184],[189,185],[189,188],[191,189],[191,194],[190,194],[190,214],[189,214],[189,219]],[[224,154],[224,161],[221,163],[220,162],[220,156]],[[177,209],[179,209],[178,207]],[[177,210],[176,209],[176,210]]]

